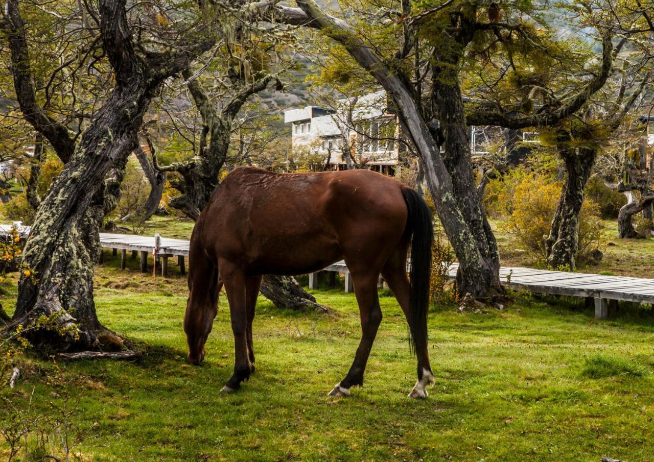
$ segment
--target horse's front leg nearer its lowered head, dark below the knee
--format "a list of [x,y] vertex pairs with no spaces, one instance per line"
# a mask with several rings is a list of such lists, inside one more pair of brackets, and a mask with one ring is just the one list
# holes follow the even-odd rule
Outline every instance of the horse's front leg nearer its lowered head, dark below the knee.
[[218,268],[227,291],[230,302],[230,317],[232,318],[232,332],[234,335],[234,373],[222,390],[231,393],[241,388],[241,382],[250,378],[252,363],[248,355],[247,340],[247,297],[245,272],[232,263],[219,261]]

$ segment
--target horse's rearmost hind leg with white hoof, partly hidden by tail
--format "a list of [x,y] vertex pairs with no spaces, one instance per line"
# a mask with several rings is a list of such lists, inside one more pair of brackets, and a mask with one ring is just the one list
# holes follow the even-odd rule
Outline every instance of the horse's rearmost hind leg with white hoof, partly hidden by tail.
[[[392,290],[393,295],[404,311],[404,316],[409,318],[409,297],[411,293],[411,284],[407,278],[406,272],[406,249],[398,249],[387,261],[381,270],[381,275]],[[411,398],[426,398],[427,387],[434,384],[434,374],[429,364],[429,353],[427,348],[415,352],[418,358],[418,381],[409,393]]]

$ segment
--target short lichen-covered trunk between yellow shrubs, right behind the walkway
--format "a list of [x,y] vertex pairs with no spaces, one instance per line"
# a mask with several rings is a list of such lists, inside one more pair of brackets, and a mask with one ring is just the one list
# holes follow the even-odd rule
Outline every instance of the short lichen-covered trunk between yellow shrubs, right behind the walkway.
[[560,148],[559,154],[564,163],[565,181],[545,240],[545,250],[549,267],[566,267],[572,271],[579,251],[579,212],[596,152],[588,148]]

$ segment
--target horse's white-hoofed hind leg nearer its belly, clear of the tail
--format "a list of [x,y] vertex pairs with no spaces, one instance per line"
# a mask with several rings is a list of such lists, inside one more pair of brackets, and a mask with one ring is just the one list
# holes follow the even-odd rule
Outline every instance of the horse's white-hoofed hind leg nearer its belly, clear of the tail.
[[330,391],[330,396],[347,396],[350,394],[352,386],[364,384],[366,363],[382,317],[381,308],[379,308],[379,297],[377,296],[378,278],[379,273],[377,272],[353,274],[354,295],[356,295],[356,301],[359,305],[362,337],[356,355],[354,355],[352,367],[345,378]]

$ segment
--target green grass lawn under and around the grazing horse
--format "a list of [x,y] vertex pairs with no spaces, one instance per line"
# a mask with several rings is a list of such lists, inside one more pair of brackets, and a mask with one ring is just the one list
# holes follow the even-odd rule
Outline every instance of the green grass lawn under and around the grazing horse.
[[[600,322],[583,304],[553,297],[519,296],[485,314],[435,309],[436,385],[428,399],[413,401],[406,397],[416,378],[404,316],[392,297],[381,297],[384,320],[364,388],[332,399],[326,393],[347,372],[359,341],[354,296],[315,292],[334,309],[330,315],[278,310],[260,299],[256,373],[239,393],[222,395],[233,361],[224,295],[207,360],[192,367],[184,361],[183,278],[153,280],[108,260],[97,269],[99,317],[147,354],[133,362],[61,363],[78,378],[71,385],[82,397],[78,420],[95,423],[97,437],[80,447],[87,460],[654,460],[649,317],[623,310]],[[20,390],[27,399],[35,387],[44,408],[50,391],[42,376],[50,366],[26,361]]]

